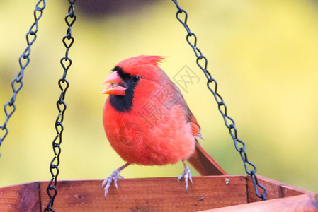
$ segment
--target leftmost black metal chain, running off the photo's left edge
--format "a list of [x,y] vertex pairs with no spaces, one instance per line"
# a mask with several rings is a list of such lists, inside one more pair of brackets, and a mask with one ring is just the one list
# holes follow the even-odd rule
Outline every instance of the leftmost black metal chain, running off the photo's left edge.
[[[8,119],[12,116],[13,112],[16,111],[16,104],[14,102],[16,101],[16,95],[18,92],[21,90],[23,83],[22,83],[22,78],[24,75],[24,70],[26,66],[30,63],[30,53],[31,53],[31,45],[36,40],[36,33],[38,33],[38,21],[43,15],[43,10],[45,9],[46,2],[45,0],[40,0],[38,3],[35,5],[35,9],[33,12],[34,15],[34,23],[31,25],[28,33],[26,33],[26,42],[28,44],[28,47],[24,50],[23,54],[19,57],[19,65],[21,71],[18,73],[18,76],[14,78],[11,82],[11,87],[13,90],[13,95],[10,101],[6,102],[4,104],[4,114],[6,114],[6,120],[4,121],[4,124],[0,126],[0,146],[2,141],[6,138],[8,135],[8,128],[6,127],[6,124],[8,124]],[[1,136],[2,131],[4,131],[4,134]]]

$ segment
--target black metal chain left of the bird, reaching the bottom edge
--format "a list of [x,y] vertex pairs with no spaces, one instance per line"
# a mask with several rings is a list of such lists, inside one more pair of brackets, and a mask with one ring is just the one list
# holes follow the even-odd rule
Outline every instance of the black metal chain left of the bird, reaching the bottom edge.
[[[59,155],[61,154],[61,143],[62,143],[62,133],[64,130],[64,126],[62,124],[64,119],[64,112],[67,109],[67,104],[64,102],[65,93],[67,91],[67,88],[69,88],[69,81],[67,81],[67,71],[69,70],[69,67],[72,65],[72,60],[69,58],[69,48],[74,43],[74,37],[72,37],[72,25],[74,24],[76,20],[76,16],[74,13],[74,3],[76,0],[68,0],[69,1],[69,10],[68,14],[65,17],[65,23],[67,23],[67,35],[65,35],[62,39],[62,42],[66,48],[65,57],[62,57],[60,60],[60,63],[62,65],[62,68],[64,69],[64,73],[61,79],[59,79],[58,84],[59,88],[61,89],[61,95],[59,95],[59,100],[57,100],[57,110],[59,110],[59,114],[57,115],[57,119],[55,121],[55,129],[57,131],[57,136],[55,136],[55,139],[52,142],[53,146],[53,152],[54,152],[54,158],[52,159],[50,163],[50,172],[52,175],[52,179],[49,182],[47,186],[47,195],[50,198],[50,201],[47,204],[47,207],[44,211],[54,211],[53,210],[53,204],[54,199],[57,196],[57,177],[59,175]],[[57,160],[55,162],[55,160]],[[52,194],[51,194],[52,192]]]

